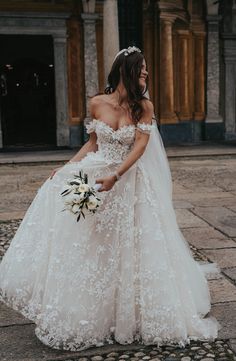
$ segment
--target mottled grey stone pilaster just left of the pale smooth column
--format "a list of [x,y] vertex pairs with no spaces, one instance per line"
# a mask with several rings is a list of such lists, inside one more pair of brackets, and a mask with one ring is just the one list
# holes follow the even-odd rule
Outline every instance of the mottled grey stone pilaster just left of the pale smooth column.
[[96,20],[98,14],[81,14],[84,21],[84,63],[85,63],[85,97],[86,117],[85,123],[90,120],[89,99],[98,92],[98,64],[96,46]]

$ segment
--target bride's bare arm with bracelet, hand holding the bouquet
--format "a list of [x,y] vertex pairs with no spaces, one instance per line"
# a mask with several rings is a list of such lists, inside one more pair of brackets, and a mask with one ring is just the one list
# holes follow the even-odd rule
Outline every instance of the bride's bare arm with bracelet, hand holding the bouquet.
[[[149,100],[144,100],[142,105],[144,112],[139,122],[144,124],[151,124],[153,116],[153,105]],[[96,183],[102,183],[100,191],[108,191],[113,187],[117,181],[117,176],[122,176],[142,156],[148,144],[148,140],[149,134],[140,132],[138,129],[136,130],[133,148],[123,163],[121,163],[121,165],[117,168],[116,174],[96,180]]]

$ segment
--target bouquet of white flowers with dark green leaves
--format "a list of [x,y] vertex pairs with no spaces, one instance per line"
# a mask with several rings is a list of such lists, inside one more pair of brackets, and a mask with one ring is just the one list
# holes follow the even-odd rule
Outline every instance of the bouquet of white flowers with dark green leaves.
[[81,215],[85,218],[85,214],[96,212],[100,203],[96,191],[101,187],[101,184],[89,186],[87,174],[80,171],[79,175],[74,175],[74,179],[67,181],[67,185],[61,193],[65,204],[63,211],[68,210],[75,214],[77,222]]

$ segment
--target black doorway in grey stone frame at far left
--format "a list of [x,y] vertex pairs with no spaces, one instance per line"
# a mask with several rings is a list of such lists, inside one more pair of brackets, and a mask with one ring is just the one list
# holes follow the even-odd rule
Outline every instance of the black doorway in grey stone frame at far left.
[[56,145],[52,37],[0,35],[0,49],[4,147]]

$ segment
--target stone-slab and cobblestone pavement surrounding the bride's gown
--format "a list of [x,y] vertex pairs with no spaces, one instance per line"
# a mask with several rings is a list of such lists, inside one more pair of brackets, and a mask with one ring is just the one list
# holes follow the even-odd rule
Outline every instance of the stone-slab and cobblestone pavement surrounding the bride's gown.
[[[0,166],[0,257],[54,167]],[[114,344],[80,353],[57,351],[40,343],[32,322],[1,304],[1,361],[236,360],[236,159],[172,159],[171,169],[178,223],[194,257],[216,261],[221,268],[221,274],[209,280],[211,315],[221,325],[219,339],[191,342],[185,348]]]

